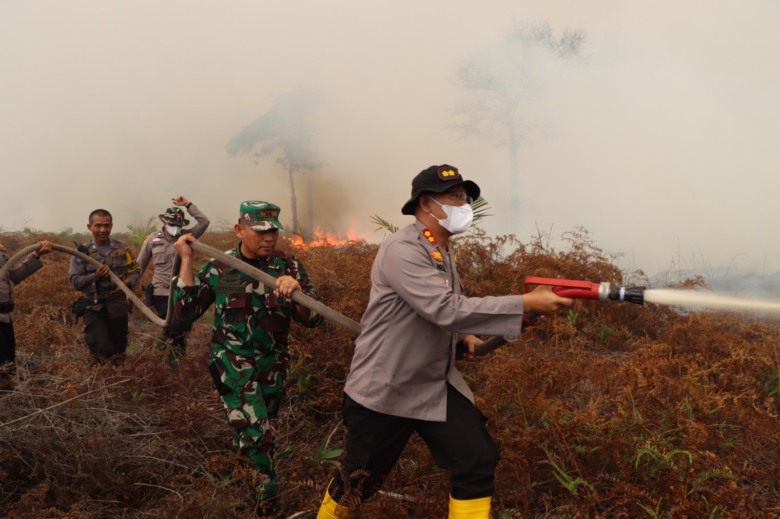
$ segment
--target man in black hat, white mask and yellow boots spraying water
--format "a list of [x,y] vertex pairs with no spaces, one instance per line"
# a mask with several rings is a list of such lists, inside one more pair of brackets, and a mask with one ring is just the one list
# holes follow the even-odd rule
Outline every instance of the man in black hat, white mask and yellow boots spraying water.
[[[365,500],[378,489],[413,432],[451,472],[451,519],[488,519],[498,449],[455,367],[456,344],[477,358],[473,334],[516,341],[525,317],[572,304],[550,287],[526,295],[466,298],[449,238],[472,222],[470,203],[480,195],[449,164],[431,166],[412,182],[402,214],[417,221],[385,238],[371,269],[371,296],[363,332],[346,380],[342,415],[347,427],[341,474],[329,485],[318,519],[346,517],[345,489]],[[523,314],[526,313],[526,316]],[[353,499],[347,500],[353,501]]]

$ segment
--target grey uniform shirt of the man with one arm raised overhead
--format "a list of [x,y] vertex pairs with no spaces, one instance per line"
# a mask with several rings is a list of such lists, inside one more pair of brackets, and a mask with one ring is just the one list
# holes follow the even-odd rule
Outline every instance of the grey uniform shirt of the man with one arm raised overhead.
[[[195,204],[190,206],[187,213],[195,218],[197,225],[182,231],[183,235],[187,233],[195,238],[200,238],[210,223],[205,214],[201,213]],[[149,266],[149,260],[154,263],[154,276],[151,278],[151,284],[154,286],[154,295],[168,295],[171,289],[171,277],[173,271],[173,259],[176,257],[176,237],[167,237],[165,232],[157,231],[148,235],[141,246],[141,252],[138,253],[138,266],[141,267],[141,276]]]

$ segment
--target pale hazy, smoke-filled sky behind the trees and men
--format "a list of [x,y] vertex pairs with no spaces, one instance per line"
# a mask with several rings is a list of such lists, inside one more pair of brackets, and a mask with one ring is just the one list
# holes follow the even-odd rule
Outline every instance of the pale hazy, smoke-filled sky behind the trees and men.
[[[549,135],[520,150],[519,221],[508,151],[447,129],[456,66],[512,19],[589,35],[529,106]],[[780,270],[778,25],[777,0],[0,1],[0,227],[80,230],[104,207],[124,230],[177,194],[215,223],[271,200],[289,224],[274,157],[225,143],[303,86],[324,100],[315,217],[332,230],[409,223],[413,176],[449,163],[482,187],[491,234],[582,225],[648,274],[678,255]]]

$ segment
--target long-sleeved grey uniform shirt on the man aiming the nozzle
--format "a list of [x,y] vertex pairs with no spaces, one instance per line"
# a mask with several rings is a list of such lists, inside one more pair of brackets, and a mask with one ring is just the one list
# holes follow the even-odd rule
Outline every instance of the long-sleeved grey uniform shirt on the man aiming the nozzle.
[[452,247],[418,220],[388,236],[374,260],[346,394],[386,415],[444,422],[448,382],[473,402],[456,343],[467,334],[516,341],[522,322],[522,295],[463,296]]

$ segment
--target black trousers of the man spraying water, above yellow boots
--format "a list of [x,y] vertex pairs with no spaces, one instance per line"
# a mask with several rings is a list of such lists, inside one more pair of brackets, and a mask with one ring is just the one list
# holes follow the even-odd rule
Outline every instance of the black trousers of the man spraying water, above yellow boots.
[[[342,408],[347,428],[346,474],[358,469],[368,476],[350,478],[350,489],[367,500],[378,490],[401,455],[413,432],[427,444],[440,468],[451,472],[450,494],[456,500],[475,500],[493,495],[498,448],[488,428],[487,418],[471,401],[447,384],[447,420],[430,422],[385,415],[344,396]],[[331,484],[331,496],[339,502],[345,487],[339,472]]]

